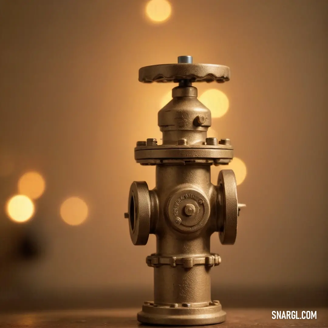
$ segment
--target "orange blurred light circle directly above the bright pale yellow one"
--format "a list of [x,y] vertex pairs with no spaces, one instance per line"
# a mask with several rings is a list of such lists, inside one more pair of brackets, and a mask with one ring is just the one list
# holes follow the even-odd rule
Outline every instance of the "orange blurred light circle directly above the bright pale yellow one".
[[31,199],[39,198],[46,188],[46,183],[41,174],[37,172],[27,172],[18,181],[18,192],[27,195]]

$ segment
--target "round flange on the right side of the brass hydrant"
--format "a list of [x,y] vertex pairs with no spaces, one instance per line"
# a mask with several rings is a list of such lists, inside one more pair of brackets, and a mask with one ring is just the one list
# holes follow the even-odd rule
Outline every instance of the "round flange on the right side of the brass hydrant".
[[220,171],[217,187],[219,238],[222,245],[233,245],[236,241],[238,223],[237,184],[234,171]]

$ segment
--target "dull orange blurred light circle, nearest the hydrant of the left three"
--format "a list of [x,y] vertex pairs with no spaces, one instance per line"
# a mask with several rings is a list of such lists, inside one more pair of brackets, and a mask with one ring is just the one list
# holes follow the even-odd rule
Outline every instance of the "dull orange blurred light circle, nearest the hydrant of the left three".
[[60,207],[60,216],[70,225],[79,225],[88,216],[88,206],[79,197],[67,198]]

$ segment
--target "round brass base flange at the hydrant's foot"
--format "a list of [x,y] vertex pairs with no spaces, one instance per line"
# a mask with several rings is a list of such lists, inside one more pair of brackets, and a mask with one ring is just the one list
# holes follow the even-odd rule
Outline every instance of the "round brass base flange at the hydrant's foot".
[[204,307],[188,307],[189,304],[156,305],[145,302],[142,311],[137,314],[141,323],[156,325],[197,326],[221,323],[226,320],[226,312],[219,301],[213,301]]

